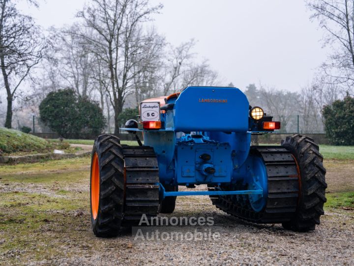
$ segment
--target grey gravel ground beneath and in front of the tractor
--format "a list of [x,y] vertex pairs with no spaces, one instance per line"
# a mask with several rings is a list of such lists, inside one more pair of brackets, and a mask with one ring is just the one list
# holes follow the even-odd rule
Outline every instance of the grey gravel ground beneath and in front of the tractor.
[[[354,216],[327,212],[316,231],[295,233],[280,225],[255,225],[217,210],[207,197],[180,197],[169,217],[213,217],[213,226],[161,227],[186,233],[211,229],[217,240],[142,241],[124,230],[116,238],[94,237],[87,221],[75,242],[63,243],[73,256],[32,265],[354,265]],[[86,242],[93,242],[91,249]]]

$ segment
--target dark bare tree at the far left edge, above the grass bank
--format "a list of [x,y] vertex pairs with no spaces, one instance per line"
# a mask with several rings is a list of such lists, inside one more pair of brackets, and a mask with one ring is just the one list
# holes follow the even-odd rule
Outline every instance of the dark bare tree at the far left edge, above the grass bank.
[[0,66],[7,93],[5,127],[12,127],[12,103],[21,83],[42,58],[43,39],[31,17],[10,0],[0,0]]

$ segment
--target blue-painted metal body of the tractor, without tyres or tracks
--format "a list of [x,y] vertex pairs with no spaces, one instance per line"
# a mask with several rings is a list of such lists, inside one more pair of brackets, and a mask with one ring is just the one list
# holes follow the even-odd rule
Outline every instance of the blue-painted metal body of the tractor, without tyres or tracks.
[[[243,195],[257,212],[267,199],[267,173],[262,158],[250,154],[251,133],[258,131],[249,117],[249,103],[237,88],[188,87],[169,99],[173,109],[161,113],[159,130],[142,132],[154,148],[159,166],[160,200],[165,197]],[[257,131],[256,131],[257,130]],[[196,136],[197,135],[197,136]],[[211,159],[200,159],[207,153]],[[213,168],[210,173],[207,168]],[[242,190],[166,191],[164,186],[240,184]],[[236,187],[236,186],[234,186]]]

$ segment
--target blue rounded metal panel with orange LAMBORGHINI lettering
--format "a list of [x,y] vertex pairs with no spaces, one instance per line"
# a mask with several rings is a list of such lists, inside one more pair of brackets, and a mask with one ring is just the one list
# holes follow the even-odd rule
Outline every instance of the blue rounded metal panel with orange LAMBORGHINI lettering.
[[247,132],[249,103],[237,88],[187,87],[174,107],[175,132]]

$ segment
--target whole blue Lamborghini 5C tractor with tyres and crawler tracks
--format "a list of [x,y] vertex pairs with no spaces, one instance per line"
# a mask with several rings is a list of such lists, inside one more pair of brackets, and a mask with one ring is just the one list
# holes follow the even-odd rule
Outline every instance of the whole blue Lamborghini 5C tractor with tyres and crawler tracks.
[[[207,195],[217,208],[247,221],[314,230],[326,201],[323,157],[313,139],[301,134],[280,146],[251,145],[251,135],[279,128],[237,88],[187,87],[142,101],[138,121],[122,129],[135,134],[139,145],[122,145],[113,134],[94,142],[93,232],[117,235],[143,214],[172,213],[177,196],[192,195]],[[205,191],[193,190],[202,184]]]

